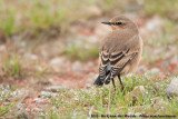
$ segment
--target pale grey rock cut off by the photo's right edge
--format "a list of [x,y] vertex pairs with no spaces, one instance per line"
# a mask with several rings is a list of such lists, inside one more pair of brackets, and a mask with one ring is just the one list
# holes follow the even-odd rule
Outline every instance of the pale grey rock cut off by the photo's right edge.
[[170,85],[166,89],[168,97],[178,97],[178,78],[171,80]]

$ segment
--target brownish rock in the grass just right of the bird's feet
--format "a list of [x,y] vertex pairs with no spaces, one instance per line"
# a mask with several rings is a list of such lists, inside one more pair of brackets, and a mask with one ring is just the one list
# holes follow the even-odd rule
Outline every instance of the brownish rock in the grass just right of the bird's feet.
[[145,97],[145,96],[146,96],[146,90],[144,86],[138,86],[138,87],[135,87],[135,89],[131,92],[126,95],[125,99],[128,101],[132,101],[132,103],[135,103],[138,100],[138,98]]

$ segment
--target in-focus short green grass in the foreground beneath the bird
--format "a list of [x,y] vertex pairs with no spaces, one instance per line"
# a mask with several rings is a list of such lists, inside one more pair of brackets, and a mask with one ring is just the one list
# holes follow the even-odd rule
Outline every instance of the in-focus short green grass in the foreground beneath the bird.
[[[101,117],[101,115],[123,116],[123,113],[128,116],[135,115],[137,117],[140,115],[177,116],[178,100],[176,97],[172,97],[171,99],[168,98],[166,91],[164,91],[166,90],[169,80],[150,80],[152,77],[156,76],[125,77],[123,92],[120,91],[119,81],[117,81],[116,91],[111,83],[102,88],[58,90],[57,96],[51,95],[50,98],[46,98],[50,100],[51,108],[43,109],[42,112],[36,115],[38,117],[48,117],[52,119],[72,117],[87,118],[91,115],[99,117]],[[155,87],[156,82],[160,85],[159,88]],[[145,97],[138,97],[137,101],[126,99],[125,97],[138,86],[145,87]],[[10,96],[11,95],[4,96],[1,93],[0,98],[1,100],[4,100]],[[6,111],[20,102],[21,101],[16,101],[10,102],[7,106],[1,106],[0,115],[6,117]]]

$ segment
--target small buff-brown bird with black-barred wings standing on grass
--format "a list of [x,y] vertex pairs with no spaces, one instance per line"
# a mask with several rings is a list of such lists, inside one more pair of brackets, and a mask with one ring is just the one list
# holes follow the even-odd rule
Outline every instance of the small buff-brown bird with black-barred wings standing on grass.
[[99,76],[93,85],[102,87],[111,80],[116,90],[113,79],[118,77],[123,90],[121,76],[136,71],[142,54],[142,39],[137,24],[125,14],[101,23],[110,26],[112,30],[100,42]]

